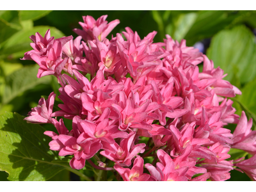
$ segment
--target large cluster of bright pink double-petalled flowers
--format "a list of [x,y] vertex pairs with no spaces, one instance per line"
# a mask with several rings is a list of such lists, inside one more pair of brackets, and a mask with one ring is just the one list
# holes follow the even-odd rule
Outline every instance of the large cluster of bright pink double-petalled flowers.
[[[56,127],[58,134],[45,131],[52,138],[50,149],[72,156],[74,169],[87,160],[93,167],[116,170],[124,180],[227,180],[236,167],[255,180],[256,131],[244,112],[240,119],[234,114],[227,97],[241,92],[223,80],[223,70],[187,47],[186,40],[179,43],[166,35],[154,43],[156,31],[141,39],[125,28],[108,40],[119,20],[108,23],[106,17],[83,17],[75,40],[54,40],[50,30],[44,38],[39,33],[30,37],[34,50],[23,60],[38,63],[38,78],[54,75],[61,85],[60,110],[52,111],[52,92],[24,118]],[[72,120],[72,130],[57,117]],[[233,134],[223,128],[227,124],[237,124]],[[227,161],[230,148],[253,157]],[[93,156],[115,166],[97,166]],[[154,161],[144,164],[148,157]]]

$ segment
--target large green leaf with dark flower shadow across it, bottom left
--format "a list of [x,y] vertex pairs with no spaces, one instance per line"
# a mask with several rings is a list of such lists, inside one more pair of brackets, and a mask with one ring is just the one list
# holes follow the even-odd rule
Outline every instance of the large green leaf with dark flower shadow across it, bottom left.
[[49,180],[63,170],[90,180],[59,159],[49,150],[51,138],[37,124],[27,124],[24,116],[6,112],[0,116],[0,170],[9,173],[8,180]]

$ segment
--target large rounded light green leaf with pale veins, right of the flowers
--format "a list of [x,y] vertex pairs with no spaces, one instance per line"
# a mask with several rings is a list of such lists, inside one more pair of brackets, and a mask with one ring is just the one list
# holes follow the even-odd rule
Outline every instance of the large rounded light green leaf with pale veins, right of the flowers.
[[212,38],[207,56],[214,66],[222,68],[225,80],[230,81],[233,74],[241,83],[246,83],[256,76],[255,37],[250,29],[237,26],[231,30],[221,31]]

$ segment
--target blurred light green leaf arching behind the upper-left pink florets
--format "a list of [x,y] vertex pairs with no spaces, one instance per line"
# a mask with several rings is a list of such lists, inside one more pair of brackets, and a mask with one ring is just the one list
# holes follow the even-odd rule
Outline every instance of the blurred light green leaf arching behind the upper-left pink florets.
[[[45,35],[45,32],[51,29],[51,36],[55,38],[61,38],[65,36],[61,31],[54,27],[50,26],[36,26],[32,29],[23,29],[13,35],[8,41],[5,42],[4,47],[0,49],[0,56],[9,56],[12,58],[22,58],[24,56],[24,52],[30,51],[33,49],[30,46],[32,42],[29,36],[35,35],[36,32],[40,33],[42,36]],[[13,54],[16,53],[16,54]]]

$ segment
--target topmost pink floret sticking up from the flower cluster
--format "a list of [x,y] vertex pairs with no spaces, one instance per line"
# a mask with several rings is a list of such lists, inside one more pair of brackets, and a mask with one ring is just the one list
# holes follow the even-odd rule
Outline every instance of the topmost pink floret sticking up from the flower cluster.
[[107,17],[108,15],[102,15],[95,20],[90,15],[83,16],[84,22],[79,22],[83,30],[74,29],[74,32],[77,33],[77,35],[81,35],[86,42],[95,39],[95,37],[103,41],[113,28],[120,23],[118,19],[108,23],[108,21],[106,21]]

